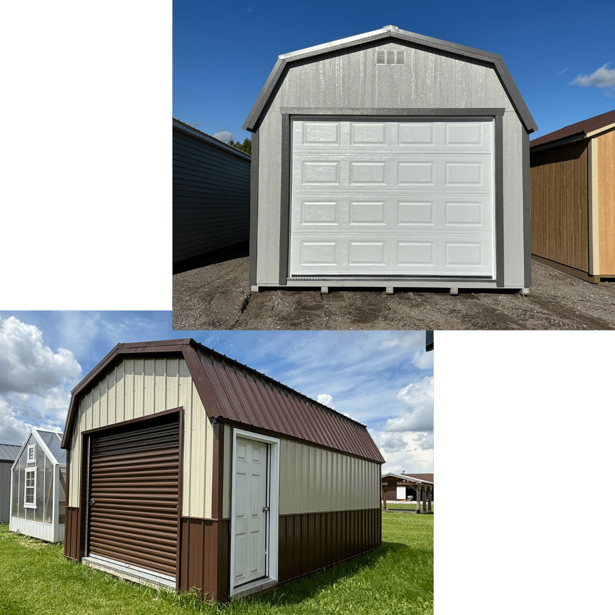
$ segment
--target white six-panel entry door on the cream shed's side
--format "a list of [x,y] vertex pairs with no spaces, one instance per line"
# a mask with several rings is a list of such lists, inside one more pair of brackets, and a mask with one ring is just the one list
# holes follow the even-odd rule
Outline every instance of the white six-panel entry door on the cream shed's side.
[[267,445],[237,437],[234,587],[266,576]]

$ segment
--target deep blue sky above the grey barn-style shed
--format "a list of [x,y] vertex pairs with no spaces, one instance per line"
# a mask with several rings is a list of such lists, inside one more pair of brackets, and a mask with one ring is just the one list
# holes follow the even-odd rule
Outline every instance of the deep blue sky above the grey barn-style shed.
[[[392,24],[502,55],[538,124],[536,138],[615,108],[614,23],[612,1],[175,0],[173,117],[243,141],[250,133],[241,126],[279,54]],[[593,81],[609,87],[570,85],[608,63]]]

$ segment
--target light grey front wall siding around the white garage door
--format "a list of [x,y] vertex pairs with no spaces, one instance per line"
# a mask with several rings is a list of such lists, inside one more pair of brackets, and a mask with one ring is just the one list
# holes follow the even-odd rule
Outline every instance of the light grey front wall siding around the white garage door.
[[[376,65],[405,49],[403,65]],[[354,48],[352,48],[354,49]],[[295,108],[504,108],[504,283],[523,286],[523,125],[493,67],[398,43],[291,65],[259,127],[256,284],[278,284],[282,115]]]

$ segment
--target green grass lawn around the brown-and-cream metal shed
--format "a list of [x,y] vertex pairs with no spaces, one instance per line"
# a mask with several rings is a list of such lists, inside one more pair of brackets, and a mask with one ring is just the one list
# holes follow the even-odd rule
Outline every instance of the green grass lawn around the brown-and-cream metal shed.
[[12,534],[0,525],[0,615],[434,613],[432,515],[383,514],[380,549],[276,592],[220,605],[133,585],[68,561],[62,553],[62,544]]

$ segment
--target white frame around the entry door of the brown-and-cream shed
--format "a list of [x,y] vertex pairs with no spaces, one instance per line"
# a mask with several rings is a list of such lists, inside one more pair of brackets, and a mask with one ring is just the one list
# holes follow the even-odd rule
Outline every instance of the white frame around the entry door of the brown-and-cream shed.
[[[264,579],[252,581],[239,585],[237,589],[234,587],[234,571],[235,571],[235,459],[237,456],[237,437],[246,438],[247,440],[256,440],[256,442],[264,442],[268,445],[267,451],[267,503],[269,506],[268,517],[266,518],[266,542],[265,549],[267,557],[265,560]],[[272,438],[268,435],[254,434],[243,429],[232,430],[232,457],[231,457],[231,578],[229,579],[230,595],[239,592],[247,592],[250,589],[260,587],[260,585],[269,585],[277,581],[277,530],[278,530],[278,515],[279,515],[279,498],[280,498],[280,440]]]

